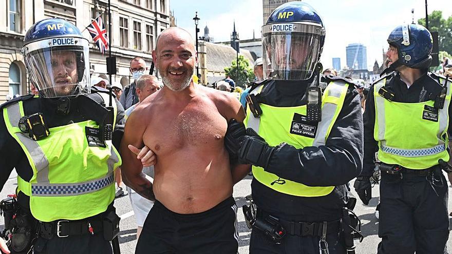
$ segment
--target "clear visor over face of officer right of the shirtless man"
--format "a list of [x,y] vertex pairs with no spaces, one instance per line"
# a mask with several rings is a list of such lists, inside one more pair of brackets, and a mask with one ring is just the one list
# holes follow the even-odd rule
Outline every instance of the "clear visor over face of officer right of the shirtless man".
[[266,79],[307,80],[318,62],[320,36],[309,33],[268,33],[262,38]]

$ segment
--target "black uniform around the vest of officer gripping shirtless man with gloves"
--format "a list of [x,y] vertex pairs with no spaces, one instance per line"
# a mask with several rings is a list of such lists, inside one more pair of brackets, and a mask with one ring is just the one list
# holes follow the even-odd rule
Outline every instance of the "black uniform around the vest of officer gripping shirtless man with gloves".
[[[312,80],[269,81],[269,87],[262,89],[259,101],[276,107],[306,105],[305,92]],[[323,80],[327,83],[331,81]],[[359,93],[354,86],[349,86],[344,106],[326,146],[292,147],[288,151],[274,153],[270,160],[272,173],[281,178],[308,186],[335,186],[334,190],[324,197],[297,197],[277,192],[253,179],[251,189],[258,217],[271,215],[288,222],[337,222],[341,219],[342,210],[349,201],[346,185],[362,168],[363,120],[360,105]],[[328,232],[326,238],[330,254],[346,252],[337,225],[330,224],[330,228],[336,230]],[[290,231],[289,228],[286,230]],[[319,236],[308,234],[300,237],[287,233],[281,244],[274,244],[261,231],[253,229],[250,253],[319,253],[319,240]]]

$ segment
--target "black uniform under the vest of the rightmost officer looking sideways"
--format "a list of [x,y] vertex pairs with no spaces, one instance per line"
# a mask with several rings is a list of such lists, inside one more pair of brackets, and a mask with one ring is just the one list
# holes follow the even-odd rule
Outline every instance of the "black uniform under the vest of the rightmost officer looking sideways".
[[[387,90],[394,94],[394,102],[418,103],[429,101],[440,94],[439,76],[424,73],[409,88],[400,79],[398,72],[388,74]],[[364,166],[362,176],[373,173],[374,153],[378,143],[373,138],[375,107],[373,86],[370,87],[366,101],[364,118]],[[449,106],[448,134],[452,133]],[[415,135],[413,133],[413,139]],[[399,175],[381,173],[380,217],[378,253],[447,253],[445,244],[448,238],[449,219],[447,215],[448,187],[440,167],[436,167],[442,186],[430,185],[421,171],[403,172]],[[424,171],[424,170],[423,170]],[[424,171],[425,172],[425,171]]]

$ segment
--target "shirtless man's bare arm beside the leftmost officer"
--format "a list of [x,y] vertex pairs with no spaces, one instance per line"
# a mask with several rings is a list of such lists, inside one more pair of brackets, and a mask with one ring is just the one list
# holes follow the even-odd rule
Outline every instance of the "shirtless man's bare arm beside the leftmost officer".
[[145,125],[140,121],[140,111],[134,110],[127,118],[125,125],[124,136],[121,141],[120,151],[122,158],[121,174],[124,183],[137,193],[148,200],[155,201],[152,183],[146,179],[142,172],[143,165],[141,160],[137,159],[139,150],[133,147],[130,150],[128,145],[135,148],[144,146],[142,136],[145,130]]

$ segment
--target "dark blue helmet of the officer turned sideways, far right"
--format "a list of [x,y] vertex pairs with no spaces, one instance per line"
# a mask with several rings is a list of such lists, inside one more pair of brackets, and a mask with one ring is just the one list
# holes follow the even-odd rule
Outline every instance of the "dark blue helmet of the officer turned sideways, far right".
[[393,70],[401,65],[415,69],[430,67],[433,38],[425,27],[403,24],[392,30],[387,41],[398,51],[399,60],[392,63]]

